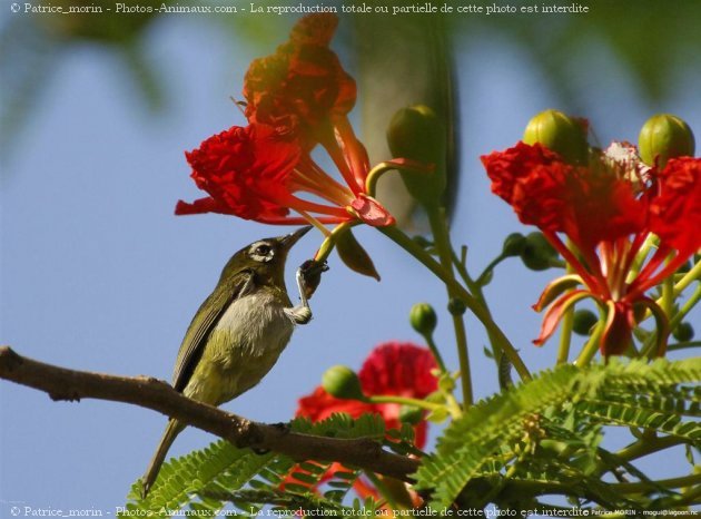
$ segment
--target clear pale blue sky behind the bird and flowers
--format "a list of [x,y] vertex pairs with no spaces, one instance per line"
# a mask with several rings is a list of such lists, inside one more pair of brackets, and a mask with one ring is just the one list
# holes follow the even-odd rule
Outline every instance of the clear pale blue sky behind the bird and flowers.
[[[292,26],[293,19],[289,18]],[[461,111],[465,117],[463,180],[454,242],[470,245],[478,272],[503,237],[524,231],[488,193],[478,156],[514,144],[527,119],[561,108],[525,53],[495,35],[464,35],[458,52]],[[467,46],[466,43],[471,45]],[[112,56],[77,47],[62,59],[48,95],[33,110],[2,173],[0,342],[45,362],[125,375],[170,379],[194,312],[220,268],[241,246],[288,232],[218,215],[175,217],[178,198],[199,196],[182,151],[243,118],[238,96],[248,61],[270,49],[233,46],[223,29],[197,17],[172,17],[149,36],[149,53],[174,101],[160,118],[139,106]],[[682,115],[697,134],[701,107],[679,88],[664,106],[648,106],[603,49],[580,63],[588,116],[602,143],[635,140],[654,111]],[[691,72],[690,72],[691,74]],[[698,76],[690,76],[698,79]],[[678,78],[684,85],[688,78]],[[365,96],[372,92],[363,92]],[[382,159],[385,157],[375,157]],[[443,287],[379,233],[357,237],[372,254],[382,283],[347,271],[336,258],[312,301],[315,320],[295,332],[264,382],[226,405],[244,417],[288,420],[296,399],[310,392],[333,364],[359,368],[388,340],[418,341],[407,323],[414,302],[443,309]],[[320,243],[310,233],[295,248],[288,280]],[[535,349],[540,316],[530,305],[552,273],[512,261],[487,290],[496,320],[536,370],[552,364],[553,345]],[[457,365],[445,314],[437,332],[446,362]],[[698,321],[698,313],[694,315]],[[475,389],[496,389],[493,362],[482,355],[484,334],[468,320]],[[142,473],[166,419],[102,401],[51,402],[40,392],[0,383],[0,510],[100,509],[113,513]],[[187,430],[171,453],[206,445]]]

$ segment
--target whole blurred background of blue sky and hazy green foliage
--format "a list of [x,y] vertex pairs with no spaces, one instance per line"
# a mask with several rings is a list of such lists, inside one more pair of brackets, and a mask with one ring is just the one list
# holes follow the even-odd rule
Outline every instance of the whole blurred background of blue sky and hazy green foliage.
[[[141,2],[149,4],[160,2]],[[635,141],[644,120],[661,111],[701,134],[701,3],[581,4],[588,13],[340,18],[333,47],[358,81],[353,120],[374,161],[388,158],[385,127],[404,105],[437,104],[455,123],[453,239],[470,247],[473,274],[509,233],[531,231],[490,194],[478,157],[516,143],[537,111],[588,117],[602,145]],[[230,98],[240,99],[248,62],[270,53],[297,17],[125,14],[115,4],[101,14],[32,14],[23,3],[19,12],[12,6],[0,4],[0,343],[59,365],[170,380],[185,330],[228,257],[288,232],[220,215],[175,217],[178,198],[200,196],[184,150],[245,124]],[[401,187],[384,184],[384,199],[403,225],[421,233],[421,215]],[[418,341],[407,314],[419,301],[440,311],[437,342],[457,366],[443,286],[376,231],[358,228],[356,236],[382,282],[332,257],[312,301],[315,320],[296,331],[264,382],[226,409],[288,420],[330,365],[358,369],[382,342]],[[319,243],[319,234],[309,234],[296,246],[288,280]],[[533,371],[555,359],[554,341],[531,344],[541,319],[531,305],[555,275],[512,260],[486,290],[496,321]],[[699,327],[699,312],[691,320]],[[467,326],[475,392],[483,398],[498,389],[495,368],[483,354],[478,323],[468,319]],[[12,506],[113,513],[166,423],[140,408],[55,403],[7,382],[0,383],[0,420],[2,517]],[[187,430],[170,453],[211,440]],[[680,466],[655,470],[672,476]]]

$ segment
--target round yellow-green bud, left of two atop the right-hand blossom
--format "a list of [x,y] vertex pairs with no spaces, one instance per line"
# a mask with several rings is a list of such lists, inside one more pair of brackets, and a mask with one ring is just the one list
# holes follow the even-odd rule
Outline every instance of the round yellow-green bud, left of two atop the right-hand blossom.
[[570,164],[589,161],[586,128],[562,111],[545,110],[533,117],[523,133],[523,141],[530,145],[540,143]]

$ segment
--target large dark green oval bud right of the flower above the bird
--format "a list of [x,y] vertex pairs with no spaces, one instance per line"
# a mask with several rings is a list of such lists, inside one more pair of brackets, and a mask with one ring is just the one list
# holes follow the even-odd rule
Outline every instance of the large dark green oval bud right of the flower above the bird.
[[401,172],[414,198],[427,206],[441,203],[445,190],[445,128],[431,108],[415,105],[399,109],[387,128],[387,144],[396,158],[433,166],[432,172]]

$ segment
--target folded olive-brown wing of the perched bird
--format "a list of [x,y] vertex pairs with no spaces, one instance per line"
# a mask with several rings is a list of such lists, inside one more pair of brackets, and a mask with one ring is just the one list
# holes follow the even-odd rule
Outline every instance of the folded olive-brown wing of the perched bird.
[[215,291],[205,300],[192,317],[182,344],[178,351],[176,365],[172,373],[172,386],[182,392],[195,372],[209,334],[217,325],[221,315],[234,300],[250,293],[254,287],[254,273],[244,271],[237,274],[229,283],[219,283]]

